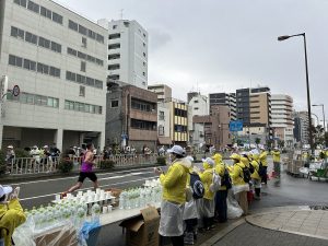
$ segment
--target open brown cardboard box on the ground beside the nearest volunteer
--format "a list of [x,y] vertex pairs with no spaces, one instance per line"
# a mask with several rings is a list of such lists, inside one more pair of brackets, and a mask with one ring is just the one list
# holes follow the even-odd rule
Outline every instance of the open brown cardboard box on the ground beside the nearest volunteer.
[[156,208],[140,211],[141,215],[126,220],[119,225],[127,229],[127,246],[159,246],[160,214]]

